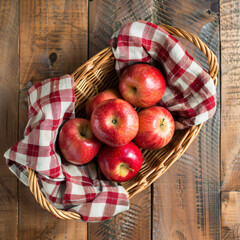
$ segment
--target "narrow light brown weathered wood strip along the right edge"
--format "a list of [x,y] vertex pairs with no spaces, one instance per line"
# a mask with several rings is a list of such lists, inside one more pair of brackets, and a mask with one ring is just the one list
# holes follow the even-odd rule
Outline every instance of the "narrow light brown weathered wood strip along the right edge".
[[240,2],[220,0],[222,239],[240,239]]

